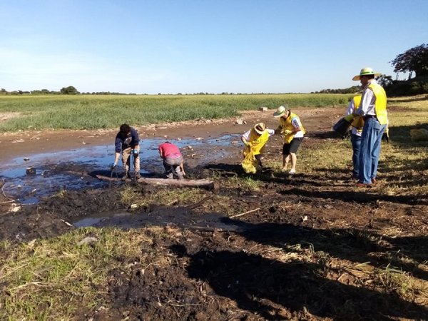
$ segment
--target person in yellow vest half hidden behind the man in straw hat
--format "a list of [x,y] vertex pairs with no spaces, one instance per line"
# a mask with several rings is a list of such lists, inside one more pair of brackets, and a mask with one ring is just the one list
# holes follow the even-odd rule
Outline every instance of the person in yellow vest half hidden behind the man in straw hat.
[[351,144],[352,144],[352,177],[359,178],[360,172],[360,147],[361,147],[361,133],[362,126],[364,126],[364,120],[361,116],[355,116],[354,113],[360,107],[361,95],[357,95],[351,98],[348,103],[345,120],[348,121],[351,126]]

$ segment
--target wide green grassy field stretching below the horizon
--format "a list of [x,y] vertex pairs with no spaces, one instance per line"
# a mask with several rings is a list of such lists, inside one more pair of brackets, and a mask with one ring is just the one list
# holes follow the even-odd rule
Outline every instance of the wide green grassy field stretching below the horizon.
[[1,113],[14,113],[1,131],[116,128],[198,118],[225,118],[260,106],[291,108],[345,106],[350,95],[206,96],[0,96]]

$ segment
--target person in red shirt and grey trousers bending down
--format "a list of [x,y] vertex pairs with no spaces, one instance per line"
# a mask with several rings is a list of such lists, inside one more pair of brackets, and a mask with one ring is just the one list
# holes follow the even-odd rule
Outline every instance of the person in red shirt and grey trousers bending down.
[[166,178],[174,178],[174,173],[178,180],[183,180],[185,175],[183,168],[183,156],[180,149],[169,141],[159,145],[159,156],[163,159]]

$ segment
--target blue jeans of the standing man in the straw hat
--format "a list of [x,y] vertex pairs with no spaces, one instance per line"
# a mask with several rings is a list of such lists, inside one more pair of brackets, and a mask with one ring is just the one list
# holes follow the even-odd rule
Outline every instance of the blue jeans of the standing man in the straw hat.
[[379,163],[380,142],[387,125],[381,125],[376,118],[369,118],[362,128],[360,149],[360,183],[370,184],[376,178]]

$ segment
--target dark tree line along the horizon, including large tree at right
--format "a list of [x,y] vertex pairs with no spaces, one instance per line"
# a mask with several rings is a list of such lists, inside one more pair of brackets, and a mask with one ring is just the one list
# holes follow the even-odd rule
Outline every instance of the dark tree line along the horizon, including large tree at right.
[[[389,61],[394,67],[394,72],[409,73],[409,78],[405,81],[395,80],[392,76],[382,75],[376,78],[382,85],[388,96],[412,96],[421,93],[428,93],[428,44],[415,46],[404,53],[397,55],[394,60]],[[412,77],[414,74],[414,77]],[[312,91],[311,93],[357,93],[361,90],[360,86],[351,86],[340,89],[322,89],[321,91]],[[271,94],[271,93],[257,93]],[[34,91],[6,91],[0,88],[0,95],[136,95],[136,93],[118,93],[111,91],[98,91],[92,93],[80,93],[74,86],[61,88],[60,91],[49,91],[48,89]],[[143,95],[147,95],[143,93]],[[161,95],[161,93],[158,93]],[[167,94],[168,95],[168,94]],[[177,93],[176,95],[183,95]],[[185,95],[188,95],[187,93]],[[213,95],[213,93],[193,93],[190,95]],[[223,92],[220,95],[235,95],[235,93]],[[236,95],[245,95],[245,93],[236,93]]]

